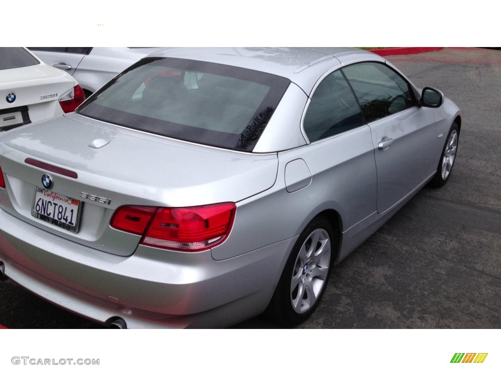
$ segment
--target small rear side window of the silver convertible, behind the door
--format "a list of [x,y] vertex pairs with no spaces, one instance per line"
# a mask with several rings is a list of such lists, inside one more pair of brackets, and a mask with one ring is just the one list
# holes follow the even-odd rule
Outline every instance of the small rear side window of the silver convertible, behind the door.
[[327,76],[312,96],[303,123],[310,142],[363,125],[363,116],[343,74]]

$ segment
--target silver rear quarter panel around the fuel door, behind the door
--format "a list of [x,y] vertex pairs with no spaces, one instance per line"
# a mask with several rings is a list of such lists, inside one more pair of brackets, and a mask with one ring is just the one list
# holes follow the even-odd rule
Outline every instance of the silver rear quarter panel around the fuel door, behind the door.
[[[303,159],[311,183],[287,192],[286,166]],[[357,129],[279,153],[277,182],[268,191],[237,203],[232,233],[212,250],[224,260],[299,235],[325,210],[339,213],[345,231],[376,211],[376,166],[370,129]]]

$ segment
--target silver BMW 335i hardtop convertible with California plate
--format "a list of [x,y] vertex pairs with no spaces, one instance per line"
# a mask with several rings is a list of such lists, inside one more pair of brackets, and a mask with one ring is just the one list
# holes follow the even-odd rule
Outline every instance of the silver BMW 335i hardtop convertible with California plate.
[[369,52],[166,49],[0,136],[0,279],[114,328],[294,326],[460,129]]

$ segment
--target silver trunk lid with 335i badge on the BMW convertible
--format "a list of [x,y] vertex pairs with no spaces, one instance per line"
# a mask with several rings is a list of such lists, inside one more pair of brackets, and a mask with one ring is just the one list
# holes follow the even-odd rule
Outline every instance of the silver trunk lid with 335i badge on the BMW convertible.
[[[15,129],[0,141],[0,166],[7,181],[7,190],[0,191],[8,194],[0,193],[2,209],[59,236],[122,256],[132,254],[141,237],[110,228],[116,208],[238,202],[269,189],[278,168],[276,154],[205,147],[75,113]],[[35,167],[26,158],[69,169],[78,177]],[[53,179],[51,191],[82,202],[77,233],[31,215],[44,173]]]

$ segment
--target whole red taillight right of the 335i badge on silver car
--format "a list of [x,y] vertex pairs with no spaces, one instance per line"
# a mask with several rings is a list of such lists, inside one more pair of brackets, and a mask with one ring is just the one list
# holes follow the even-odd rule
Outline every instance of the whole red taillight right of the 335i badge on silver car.
[[117,209],[111,227],[143,235],[141,244],[177,251],[203,251],[221,244],[235,216],[233,203],[189,208],[125,206]]

